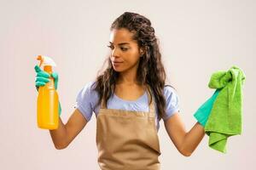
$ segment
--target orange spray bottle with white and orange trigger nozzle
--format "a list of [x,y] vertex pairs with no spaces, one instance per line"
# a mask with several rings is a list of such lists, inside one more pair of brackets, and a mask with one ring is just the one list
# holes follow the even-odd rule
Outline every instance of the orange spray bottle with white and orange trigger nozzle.
[[[39,67],[44,66],[44,71],[52,73],[55,66],[53,59],[38,55]],[[56,129],[59,125],[59,98],[55,90],[54,78],[50,77],[45,86],[38,89],[38,127],[44,129]]]

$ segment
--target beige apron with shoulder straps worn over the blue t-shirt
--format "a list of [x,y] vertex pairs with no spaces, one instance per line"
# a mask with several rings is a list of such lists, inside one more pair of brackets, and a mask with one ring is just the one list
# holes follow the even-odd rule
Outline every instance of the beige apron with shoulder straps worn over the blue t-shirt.
[[[154,101],[150,88],[147,94],[148,101]],[[101,169],[159,170],[161,153],[154,102],[150,102],[148,112],[107,109],[105,105],[102,100],[96,118],[96,145]]]

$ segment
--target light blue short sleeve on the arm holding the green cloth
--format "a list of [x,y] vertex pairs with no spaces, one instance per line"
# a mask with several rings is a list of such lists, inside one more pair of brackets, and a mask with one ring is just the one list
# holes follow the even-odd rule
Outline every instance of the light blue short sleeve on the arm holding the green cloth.
[[166,97],[166,114],[163,116],[163,120],[167,120],[174,113],[179,112],[179,97],[177,92],[171,86],[164,88],[164,95]]

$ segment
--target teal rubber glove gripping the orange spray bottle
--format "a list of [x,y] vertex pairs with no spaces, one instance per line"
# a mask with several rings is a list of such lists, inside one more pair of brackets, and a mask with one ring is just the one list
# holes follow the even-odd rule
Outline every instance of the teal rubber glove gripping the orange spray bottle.
[[[37,78],[36,78],[36,83],[35,83],[35,86],[36,86],[37,90],[40,86],[44,86],[47,82],[49,82],[49,77],[54,78],[55,89],[58,88],[59,76],[58,76],[57,72],[53,72],[49,75],[48,72],[42,71],[41,68],[38,65],[36,65],[34,67],[34,69],[37,72]],[[61,116],[61,103],[60,103],[60,101],[59,101],[59,116]]]

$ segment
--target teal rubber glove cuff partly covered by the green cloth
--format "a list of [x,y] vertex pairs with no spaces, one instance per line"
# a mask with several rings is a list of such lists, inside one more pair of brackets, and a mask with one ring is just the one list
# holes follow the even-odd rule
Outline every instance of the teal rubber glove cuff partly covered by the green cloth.
[[195,119],[200,122],[200,124],[205,127],[208,117],[212,111],[212,106],[214,104],[215,99],[218,96],[218,93],[220,92],[220,89],[216,89],[214,94],[212,94],[212,97],[210,99],[207,99],[207,101],[201,105],[201,107],[195,111]]

